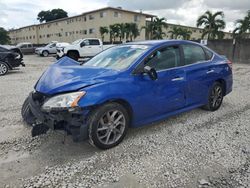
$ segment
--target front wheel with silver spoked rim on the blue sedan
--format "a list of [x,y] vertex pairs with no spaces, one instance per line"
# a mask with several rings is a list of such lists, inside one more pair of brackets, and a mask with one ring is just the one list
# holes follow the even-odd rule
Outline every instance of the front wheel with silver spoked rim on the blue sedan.
[[119,103],[107,103],[96,108],[89,116],[90,143],[100,149],[117,146],[124,139],[130,118]]

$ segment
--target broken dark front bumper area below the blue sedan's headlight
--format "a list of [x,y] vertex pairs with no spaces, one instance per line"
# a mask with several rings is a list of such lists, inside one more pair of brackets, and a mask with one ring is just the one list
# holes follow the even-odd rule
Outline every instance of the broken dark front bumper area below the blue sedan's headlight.
[[44,112],[41,110],[41,106],[45,98],[45,95],[37,92],[30,93],[28,97],[29,107],[37,124],[43,124],[52,130],[64,130],[72,135],[74,141],[88,139],[87,111],[78,108],[74,111]]

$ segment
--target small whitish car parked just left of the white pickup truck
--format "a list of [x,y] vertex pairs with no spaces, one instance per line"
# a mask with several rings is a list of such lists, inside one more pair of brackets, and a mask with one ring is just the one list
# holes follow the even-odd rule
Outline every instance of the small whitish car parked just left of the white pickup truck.
[[36,48],[35,53],[37,55],[47,57],[50,54],[56,54],[58,47],[65,47],[67,45],[69,45],[69,43],[65,43],[65,42],[64,43],[59,43],[57,41],[53,41],[53,42],[47,44],[44,47]]

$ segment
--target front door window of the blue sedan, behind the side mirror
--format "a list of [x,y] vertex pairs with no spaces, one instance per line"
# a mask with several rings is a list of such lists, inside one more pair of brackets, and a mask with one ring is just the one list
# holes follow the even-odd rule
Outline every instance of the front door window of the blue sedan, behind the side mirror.
[[180,66],[179,47],[168,46],[156,50],[147,58],[145,65],[155,68],[156,71]]

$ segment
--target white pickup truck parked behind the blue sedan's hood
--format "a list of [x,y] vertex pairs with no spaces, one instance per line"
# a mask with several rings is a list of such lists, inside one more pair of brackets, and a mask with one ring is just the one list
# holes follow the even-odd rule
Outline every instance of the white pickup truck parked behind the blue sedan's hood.
[[101,51],[114,45],[103,45],[100,39],[86,38],[79,39],[64,48],[57,49],[57,59],[68,56],[74,60],[93,57]]

